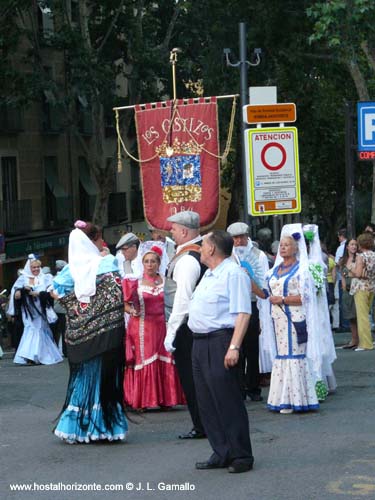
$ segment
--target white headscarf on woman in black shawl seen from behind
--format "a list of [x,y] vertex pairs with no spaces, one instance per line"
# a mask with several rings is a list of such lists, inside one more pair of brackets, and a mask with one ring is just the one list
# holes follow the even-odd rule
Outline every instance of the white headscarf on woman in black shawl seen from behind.
[[74,280],[74,293],[80,302],[89,303],[96,293],[96,275],[102,257],[81,229],[73,229],[69,236],[69,269]]

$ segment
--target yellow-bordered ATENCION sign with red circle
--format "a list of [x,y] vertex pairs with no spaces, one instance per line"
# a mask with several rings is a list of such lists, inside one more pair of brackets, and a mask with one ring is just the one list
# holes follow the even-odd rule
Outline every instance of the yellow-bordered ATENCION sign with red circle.
[[245,131],[248,210],[253,216],[301,211],[295,127]]

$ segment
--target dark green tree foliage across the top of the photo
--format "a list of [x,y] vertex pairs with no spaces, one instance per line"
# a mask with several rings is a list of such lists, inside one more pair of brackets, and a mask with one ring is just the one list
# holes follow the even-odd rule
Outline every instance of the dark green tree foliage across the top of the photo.
[[[14,5],[11,0],[3,3]],[[249,68],[249,85],[277,85],[278,101],[297,105],[302,216],[324,222],[327,232],[344,222],[344,107],[357,94],[343,61],[357,61],[370,93],[374,92],[373,72],[361,49],[363,42],[371,50],[375,46],[373,0],[86,0],[81,4],[90,9],[89,39],[79,26],[69,23],[65,3],[51,2],[58,29],[48,45],[19,22],[27,18],[28,0],[17,2],[18,22],[14,9],[0,10],[5,14],[0,20],[0,89],[6,89],[0,91],[1,98],[27,103],[49,88],[58,99],[61,96],[67,110],[77,95],[107,109],[165,99],[171,96],[169,51],[173,47],[182,50],[177,63],[178,97],[191,95],[184,84],[189,80],[202,80],[207,96],[238,93],[239,71],[226,67],[223,49],[230,47],[232,61],[238,59],[238,23],[246,22],[248,59],[255,47],[263,50],[261,65]],[[30,43],[16,65],[11,55],[19,49],[21,36]],[[40,53],[48,50],[57,50],[64,58],[68,92],[43,70]],[[125,99],[116,97],[119,74],[128,79]],[[220,101],[219,110],[223,150],[231,103]],[[236,120],[222,180],[233,187],[238,200],[242,190],[239,109]],[[134,134],[132,128],[130,133]],[[362,180],[359,184],[363,186]]]

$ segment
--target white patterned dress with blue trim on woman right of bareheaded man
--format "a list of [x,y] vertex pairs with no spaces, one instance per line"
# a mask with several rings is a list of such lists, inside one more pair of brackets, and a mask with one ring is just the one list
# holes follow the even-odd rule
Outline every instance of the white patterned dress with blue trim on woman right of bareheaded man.
[[[269,278],[272,295],[301,295],[298,262],[285,274],[278,276],[279,267]],[[306,343],[297,343],[292,321],[305,319],[304,306],[271,306],[276,336],[276,358],[272,366],[268,409],[280,411],[309,411],[319,408],[313,377],[306,358]],[[286,313],[286,314],[285,314]]]

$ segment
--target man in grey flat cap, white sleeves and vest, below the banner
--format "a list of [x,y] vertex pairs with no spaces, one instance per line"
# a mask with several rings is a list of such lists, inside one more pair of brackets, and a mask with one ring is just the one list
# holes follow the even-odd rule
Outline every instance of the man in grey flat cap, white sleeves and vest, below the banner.
[[167,320],[165,348],[174,352],[176,368],[184,390],[193,428],[181,434],[180,439],[205,437],[193,380],[191,349],[192,333],[187,326],[189,301],[202,277],[205,267],[200,264],[199,214],[192,211],[178,212],[167,219],[172,223],[171,234],[176,242],[176,255],[168,264],[164,285],[164,304]]

